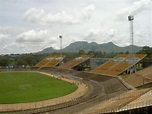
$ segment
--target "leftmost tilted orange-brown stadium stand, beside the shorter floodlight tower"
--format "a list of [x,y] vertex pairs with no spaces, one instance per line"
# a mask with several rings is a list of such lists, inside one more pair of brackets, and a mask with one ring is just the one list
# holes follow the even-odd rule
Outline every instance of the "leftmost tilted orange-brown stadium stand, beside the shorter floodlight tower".
[[55,67],[57,66],[63,59],[65,55],[49,55],[44,58],[42,61],[37,63],[34,67],[35,68],[42,68],[42,67]]

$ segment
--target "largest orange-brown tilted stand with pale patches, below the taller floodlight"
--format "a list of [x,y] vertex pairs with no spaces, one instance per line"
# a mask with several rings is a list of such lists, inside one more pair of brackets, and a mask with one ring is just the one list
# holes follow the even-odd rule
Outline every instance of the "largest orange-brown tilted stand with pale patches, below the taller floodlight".
[[91,70],[91,72],[109,76],[120,75],[141,61],[145,56],[146,54],[120,54],[96,69]]

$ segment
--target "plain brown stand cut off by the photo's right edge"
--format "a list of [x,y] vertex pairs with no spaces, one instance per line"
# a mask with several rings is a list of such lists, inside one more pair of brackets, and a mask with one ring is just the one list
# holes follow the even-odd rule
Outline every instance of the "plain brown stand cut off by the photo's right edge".
[[136,73],[124,77],[124,80],[133,87],[139,87],[152,82],[152,66],[146,69],[140,70]]

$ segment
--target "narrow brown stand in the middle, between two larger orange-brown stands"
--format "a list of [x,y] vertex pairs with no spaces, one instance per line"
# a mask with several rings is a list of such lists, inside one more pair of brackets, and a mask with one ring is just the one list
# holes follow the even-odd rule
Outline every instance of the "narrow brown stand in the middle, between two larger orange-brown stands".
[[77,57],[63,65],[58,66],[58,68],[63,68],[63,69],[72,69],[76,67],[77,65],[89,60],[93,55],[81,55],[80,57]]

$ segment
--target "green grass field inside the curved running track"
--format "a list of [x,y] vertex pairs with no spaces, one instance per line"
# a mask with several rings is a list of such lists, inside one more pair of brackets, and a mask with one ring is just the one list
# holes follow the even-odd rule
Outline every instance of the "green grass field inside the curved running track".
[[38,72],[0,73],[0,104],[48,100],[76,89],[74,84]]

